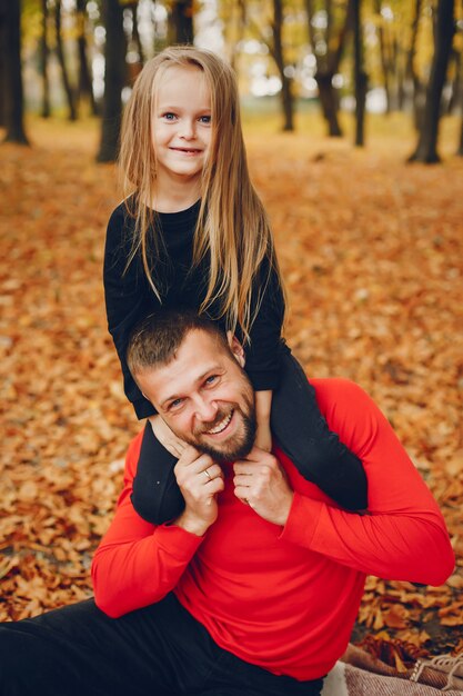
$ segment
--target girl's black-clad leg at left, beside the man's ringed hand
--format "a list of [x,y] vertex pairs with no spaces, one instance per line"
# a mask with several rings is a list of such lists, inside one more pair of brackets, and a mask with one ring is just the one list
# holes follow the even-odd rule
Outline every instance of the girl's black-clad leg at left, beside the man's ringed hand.
[[132,504],[140,517],[154,525],[174,519],[183,511],[184,499],[173,473],[175,464],[175,457],[159,443],[147,421]]

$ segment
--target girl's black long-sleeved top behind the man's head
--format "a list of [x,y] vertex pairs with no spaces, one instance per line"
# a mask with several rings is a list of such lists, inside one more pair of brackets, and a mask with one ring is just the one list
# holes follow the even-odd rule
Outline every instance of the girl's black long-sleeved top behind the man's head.
[[[200,210],[200,201],[180,212],[157,213],[162,233],[159,258],[153,264],[154,282],[164,306],[199,309],[205,297],[209,267],[203,260],[192,268],[193,236]],[[160,302],[143,269],[141,255],[137,253],[125,270],[133,240],[133,219],[121,203],[110,217],[104,250],[104,297],[109,331],[114,340],[121,361],[124,390],[133,404],[138,418],[155,414],[152,404],[141,394],[125,360],[128,341],[135,325],[155,311]],[[150,233],[153,233],[150,230]],[[260,278],[268,276],[269,261],[263,261]],[[214,315],[214,307],[211,308]],[[274,270],[252,325],[251,344],[246,350],[246,372],[256,390],[275,389],[279,386],[280,338],[284,314],[283,294]],[[223,322],[223,320],[222,320]],[[238,336],[240,338],[239,331]]]

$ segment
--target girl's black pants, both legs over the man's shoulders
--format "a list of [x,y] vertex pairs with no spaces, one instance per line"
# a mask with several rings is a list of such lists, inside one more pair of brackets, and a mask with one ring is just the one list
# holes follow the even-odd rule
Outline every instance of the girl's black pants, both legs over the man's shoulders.
[[[359,457],[332,432],[320,412],[315,390],[282,344],[281,384],[273,392],[271,428],[281,449],[304,478],[348,510],[368,507],[366,476]],[[177,459],[155,439],[147,424],[132,503],[137,513],[159,525],[184,508],[173,467]]]

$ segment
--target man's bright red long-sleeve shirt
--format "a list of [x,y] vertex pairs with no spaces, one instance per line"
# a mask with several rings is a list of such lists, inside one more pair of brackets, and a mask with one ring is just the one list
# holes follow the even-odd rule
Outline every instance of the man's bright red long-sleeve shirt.
[[363,461],[370,514],[334,507],[275,448],[295,491],[284,527],[234,496],[231,466],[219,518],[203,537],[173,525],[154,527],[130,500],[140,435],[128,453],[115,517],[93,559],[103,612],[118,617],[173,590],[221,647],[275,674],[315,679],[349,643],[366,574],[445,581],[454,567],[445,524],[384,416],[350,381],[312,384],[330,428]]

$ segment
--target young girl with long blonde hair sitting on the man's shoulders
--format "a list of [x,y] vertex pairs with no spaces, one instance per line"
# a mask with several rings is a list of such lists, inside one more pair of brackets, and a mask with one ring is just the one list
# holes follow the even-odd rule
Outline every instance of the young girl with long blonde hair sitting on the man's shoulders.
[[148,418],[132,496],[137,511],[161,524],[184,506],[173,474],[182,443],[125,361],[131,330],[160,305],[194,308],[234,331],[255,390],[255,444],[270,450],[272,430],[305,478],[348,509],[366,508],[360,460],[328,429],[281,339],[282,280],[249,178],[231,68],[191,47],[168,48],[150,60],[124,112],[120,166],[127,198],[108,225],[104,290],[125,394],[137,416]]

